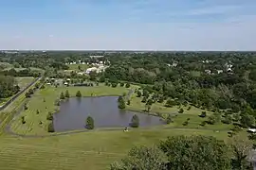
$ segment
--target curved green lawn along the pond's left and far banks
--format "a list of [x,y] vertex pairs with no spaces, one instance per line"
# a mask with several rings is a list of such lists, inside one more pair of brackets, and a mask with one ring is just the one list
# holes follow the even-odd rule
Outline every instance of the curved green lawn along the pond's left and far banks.
[[[134,88],[133,86],[131,88]],[[78,91],[81,91],[82,96],[99,95],[121,95],[128,93],[129,89],[124,87],[107,87],[102,84],[95,87],[50,87],[40,90],[35,93],[27,103],[27,110],[15,117],[11,124],[11,129],[20,134],[47,134],[49,121],[46,120],[48,112],[56,112],[58,106],[54,103],[60,98],[60,94],[68,91],[70,96],[75,96]],[[37,110],[39,113],[37,113]],[[22,124],[21,117],[25,116],[26,124]],[[42,123],[42,124],[41,124]]]

